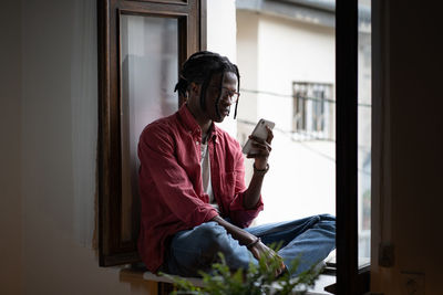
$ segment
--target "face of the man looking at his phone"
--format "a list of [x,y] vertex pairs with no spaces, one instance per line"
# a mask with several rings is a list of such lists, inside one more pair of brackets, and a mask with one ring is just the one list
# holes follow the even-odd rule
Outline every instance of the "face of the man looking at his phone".
[[231,97],[236,91],[236,74],[226,72],[224,75],[213,76],[206,89],[206,114],[210,120],[220,123],[229,115],[230,106],[234,103]]

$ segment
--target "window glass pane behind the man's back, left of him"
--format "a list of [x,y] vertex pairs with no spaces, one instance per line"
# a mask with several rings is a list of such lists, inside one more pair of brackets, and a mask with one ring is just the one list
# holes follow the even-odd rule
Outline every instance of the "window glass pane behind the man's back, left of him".
[[[122,129],[122,238],[138,233],[131,226],[138,210],[137,143],[151,122],[178,108],[174,86],[178,77],[176,19],[121,17],[121,129]],[[136,228],[135,228],[136,229]]]

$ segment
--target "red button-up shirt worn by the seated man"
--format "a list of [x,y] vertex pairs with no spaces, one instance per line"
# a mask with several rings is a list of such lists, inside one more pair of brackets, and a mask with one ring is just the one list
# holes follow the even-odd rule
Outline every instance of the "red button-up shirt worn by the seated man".
[[[186,105],[145,127],[138,143],[142,206],[138,252],[146,267],[163,263],[168,238],[218,215],[204,192],[200,172],[202,129]],[[240,145],[213,124],[208,137],[210,178],[220,215],[246,228],[262,210],[243,206],[245,166]]]

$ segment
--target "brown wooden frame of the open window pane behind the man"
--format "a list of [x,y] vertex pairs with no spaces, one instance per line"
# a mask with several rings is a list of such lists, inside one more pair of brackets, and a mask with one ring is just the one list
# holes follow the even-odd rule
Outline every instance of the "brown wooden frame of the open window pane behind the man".
[[[121,66],[122,14],[175,18],[178,64],[206,48],[206,0],[97,0],[99,21],[99,263],[140,261],[136,238],[122,240]],[[178,78],[178,77],[177,77]],[[177,96],[177,106],[183,102]],[[119,217],[119,218],[116,218]],[[138,219],[132,222],[138,229]]]

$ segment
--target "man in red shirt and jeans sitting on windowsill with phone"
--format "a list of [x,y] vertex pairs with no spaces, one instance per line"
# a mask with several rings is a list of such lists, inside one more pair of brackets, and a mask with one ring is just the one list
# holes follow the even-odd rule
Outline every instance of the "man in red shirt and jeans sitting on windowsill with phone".
[[[193,54],[175,87],[186,103],[141,135],[138,251],[152,272],[196,276],[222,252],[233,270],[247,268],[261,255],[279,255],[287,266],[300,257],[297,271],[288,270],[296,275],[334,247],[330,215],[247,228],[264,208],[260,189],[274,135],[267,128],[266,140],[250,137],[258,152],[247,155],[255,161],[246,188],[241,148],[214,124],[229,115],[234,103],[237,112],[239,82],[238,69],[227,57]],[[267,246],[280,241],[278,253]]]

